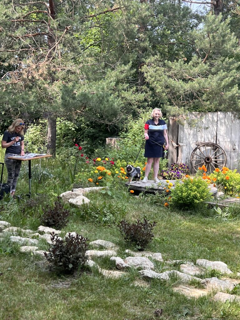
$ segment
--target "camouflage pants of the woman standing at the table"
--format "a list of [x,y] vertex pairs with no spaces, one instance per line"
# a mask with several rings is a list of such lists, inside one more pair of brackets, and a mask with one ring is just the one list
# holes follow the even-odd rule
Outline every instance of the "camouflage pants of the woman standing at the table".
[[22,162],[20,160],[8,159],[10,156],[20,156],[20,154],[6,153],[5,164],[7,167],[7,184],[10,186],[10,192],[16,191],[16,185],[18,181],[19,172],[21,169]]

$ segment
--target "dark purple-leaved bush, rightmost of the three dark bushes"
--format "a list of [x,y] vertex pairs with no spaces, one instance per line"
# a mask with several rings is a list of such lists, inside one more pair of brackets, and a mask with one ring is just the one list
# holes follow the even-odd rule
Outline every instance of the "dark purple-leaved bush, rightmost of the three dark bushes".
[[126,220],[119,221],[118,228],[124,240],[135,244],[136,248],[143,251],[144,248],[152,241],[154,234],[152,229],[156,226],[156,222],[150,223],[145,218],[143,222],[137,220],[137,223],[130,223]]

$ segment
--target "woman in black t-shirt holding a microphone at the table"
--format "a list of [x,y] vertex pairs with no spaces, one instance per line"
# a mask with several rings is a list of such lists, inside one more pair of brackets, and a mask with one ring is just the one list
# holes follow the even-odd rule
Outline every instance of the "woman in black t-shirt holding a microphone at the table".
[[10,156],[24,156],[24,127],[22,119],[16,119],[3,134],[2,148],[6,148],[5,164],[7,167],[7,184],[10,186],[10,193],[14,196],[17,180],[22,162],[20,160],[8,159]]

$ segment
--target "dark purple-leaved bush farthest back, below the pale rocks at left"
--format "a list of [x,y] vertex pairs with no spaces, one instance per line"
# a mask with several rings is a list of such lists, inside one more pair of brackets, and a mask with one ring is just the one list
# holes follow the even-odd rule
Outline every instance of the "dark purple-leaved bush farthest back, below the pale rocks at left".
[[45,227],[62,229],[67,225],[70,212],[67,209],[64,209],[60,197],[54,202],[53,208],[47,206],[45,210],[46,211],[44,211],[44,214],[41,217],[41,222]]

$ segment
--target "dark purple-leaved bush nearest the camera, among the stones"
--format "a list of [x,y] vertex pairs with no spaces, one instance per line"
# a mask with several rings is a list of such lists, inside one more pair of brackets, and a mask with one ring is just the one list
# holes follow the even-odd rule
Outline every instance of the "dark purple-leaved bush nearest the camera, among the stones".
[[44,256],[48,262],[57,268],[60,268],[64,273],[73,273],[79,267],[83,267],[88,259],[87,238],[81,235],[71,235],[70,232],[65,240],[51,233],[52,244],[48,249],[49,253],[44,252]]

